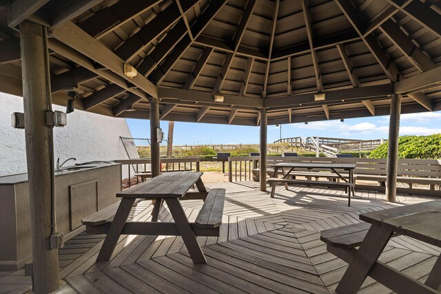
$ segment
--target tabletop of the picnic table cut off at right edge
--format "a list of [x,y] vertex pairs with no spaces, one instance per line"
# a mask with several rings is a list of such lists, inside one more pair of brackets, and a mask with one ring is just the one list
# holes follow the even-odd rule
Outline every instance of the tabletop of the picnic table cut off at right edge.
[[441,247],[441,200],[363,213],[360,220]]

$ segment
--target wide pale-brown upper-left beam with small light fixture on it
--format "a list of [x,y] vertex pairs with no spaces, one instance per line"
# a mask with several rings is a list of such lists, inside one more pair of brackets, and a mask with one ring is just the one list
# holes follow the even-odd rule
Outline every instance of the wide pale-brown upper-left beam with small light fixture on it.
[[154,98],[158,96],[158,88],[156,85],[153,85],[152,82],[148,81],[147,78],[141,74],[137,74],[133,78],[126,76],[124,74],[125,62],[105,47],[103,43],[94,39],[77,25],[74,25],[74,23],[69,22],[61,25],[52,31],[52,36],[70,46],[70,48],[88,56],[88,58],[94,60],[96,63],[103,65],[108,70],[118,74],[126,83],[136,85],[136,87],[139,87]]

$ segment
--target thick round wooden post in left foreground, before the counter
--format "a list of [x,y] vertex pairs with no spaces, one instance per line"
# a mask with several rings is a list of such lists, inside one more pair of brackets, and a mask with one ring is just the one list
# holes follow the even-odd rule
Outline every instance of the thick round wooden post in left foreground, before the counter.
[[52,129],[46,125],[46,112],[52,111],[47,32],[24,21],[20,43],[34,292],[52,293],[59,287],[59,264],[58,250],[50,249],[54,159]]

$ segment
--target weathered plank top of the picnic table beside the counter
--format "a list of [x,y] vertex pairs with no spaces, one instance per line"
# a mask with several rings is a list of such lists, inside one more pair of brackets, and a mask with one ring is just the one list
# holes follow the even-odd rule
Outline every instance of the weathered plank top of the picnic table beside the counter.
[[203,172],[174,171],[164,173],[127,190],[116,193],[123,198],[182,198]]

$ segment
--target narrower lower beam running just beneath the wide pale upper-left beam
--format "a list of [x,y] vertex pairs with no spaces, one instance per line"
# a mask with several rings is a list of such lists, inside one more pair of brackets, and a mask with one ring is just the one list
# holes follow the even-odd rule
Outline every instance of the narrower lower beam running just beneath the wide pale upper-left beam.
[[125,78],[122,78],[118,74],[115,74],[114,72],[111,72],[110,70],[99,70],[95,67],[95,63],[93,63],[88,56],[85,56],[78,51],[70,48],[68,45],[65,45],[64,43],[61,43],[61,41],[58,41],[54,38],[48,39],[48,45],[51,50],[54,50],[55,52],[59,53],[60,55],[64,56],[65,58],[69,59],[70,61],[77,63],[78,65],[85,67],[85,69],[90,70],[91,72],[94,72],[94,74],[97,74],[99,76],[102,76],[103,78],[107,79],[107,81],[110,81],[112,83],[116,83],[116,85],[119,85],[120,87],[123,87],[129,92],[132,92],[133,94],[138,95],[141,98],[148,98],[144,92],[136,90],[135,88],[128,87],[127,80]]

